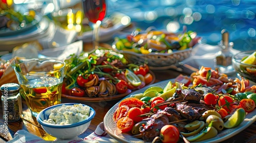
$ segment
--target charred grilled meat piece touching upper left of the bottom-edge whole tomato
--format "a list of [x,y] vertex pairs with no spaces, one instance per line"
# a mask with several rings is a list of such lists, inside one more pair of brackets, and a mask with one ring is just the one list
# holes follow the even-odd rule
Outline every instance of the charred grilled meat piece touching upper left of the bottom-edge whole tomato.
[[146,125],[139,128],[144,141],[153,141],[156,136],[160,135],[160,130],[164,125],[168,124],[169,114],[156,113],[151,116],[151,120]]

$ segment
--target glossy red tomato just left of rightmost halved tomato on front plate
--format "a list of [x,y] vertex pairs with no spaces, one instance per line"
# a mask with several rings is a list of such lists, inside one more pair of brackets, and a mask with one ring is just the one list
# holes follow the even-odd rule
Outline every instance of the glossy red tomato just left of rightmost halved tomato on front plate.
[[218,101],[219,106],[229,113],[232,111],[231,103],[233,103],[233,98],[229,96],[221,96]]

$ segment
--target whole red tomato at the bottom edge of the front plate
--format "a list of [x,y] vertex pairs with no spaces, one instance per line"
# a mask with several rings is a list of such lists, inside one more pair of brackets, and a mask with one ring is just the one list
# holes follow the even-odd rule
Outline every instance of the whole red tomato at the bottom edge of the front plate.
[[160,136],[164,143],[176,143],[180,138],[180,131],[174,125],[165,125],[160,130]]

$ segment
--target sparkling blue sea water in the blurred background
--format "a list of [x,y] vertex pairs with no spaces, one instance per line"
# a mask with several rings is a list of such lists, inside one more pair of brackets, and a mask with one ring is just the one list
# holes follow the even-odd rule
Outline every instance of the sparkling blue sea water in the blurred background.
[[[118,11],[141,29],[154,26],[197,32],[203,43],[217,45],[226,29],[233,48],[256,50],[256,1],[252,0],[107,0],[107,14]],[[175,23],[174,27],[168,27]]]

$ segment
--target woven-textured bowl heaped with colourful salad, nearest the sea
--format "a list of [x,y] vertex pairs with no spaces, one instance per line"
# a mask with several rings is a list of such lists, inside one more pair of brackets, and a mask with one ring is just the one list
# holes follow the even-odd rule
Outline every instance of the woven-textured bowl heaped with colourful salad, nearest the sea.
[[144,62],[152,69],[163,69],[188,58],[200,39],[196,32],[186,28],[181,33],[135,30],[124,38],[115,37],[112,48],[129,62]]

